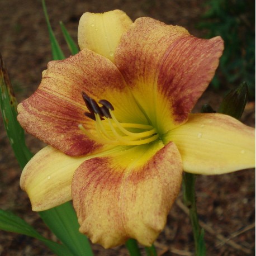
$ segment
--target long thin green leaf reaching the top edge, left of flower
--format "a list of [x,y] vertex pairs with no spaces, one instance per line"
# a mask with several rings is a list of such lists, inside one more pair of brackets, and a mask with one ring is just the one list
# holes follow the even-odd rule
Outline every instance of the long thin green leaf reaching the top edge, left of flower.
[[51,29],[51,24],[50,24],[50,21],[49,21],[49,17],[48,17],[48,13],[47,13],[47,10],[46,10],[44,0],[42,0],[42,8],[44,9],[45,20],[46,20],[49,35],[50,35],[51,52],[53,54],[53,59],[54,60],[63,60],[63,59],[65,59],[65,56],[63,54],[63,51],[61,51],[61,49],[60,49],[59,43],[56,40],[53,29]]

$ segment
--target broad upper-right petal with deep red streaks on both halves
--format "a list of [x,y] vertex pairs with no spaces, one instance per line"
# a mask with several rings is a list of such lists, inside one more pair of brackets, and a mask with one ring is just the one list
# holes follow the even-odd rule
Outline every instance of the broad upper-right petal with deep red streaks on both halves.
[[183,27],[143,17],[121,37],[115,63],[164,134],[187,120],[214,76],[222,50],[220,37],[198,39]]

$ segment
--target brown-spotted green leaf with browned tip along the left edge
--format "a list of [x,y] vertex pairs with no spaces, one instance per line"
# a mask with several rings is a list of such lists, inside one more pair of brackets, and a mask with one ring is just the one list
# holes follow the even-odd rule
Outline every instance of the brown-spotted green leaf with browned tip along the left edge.
[[31,159],[32,153],[25,144],[24,131],[17,121],[17,100],[1,54],[0,88],[0,108],[3,116],[3,124],[15,153],[15,157],[17,158],[20,167],[23,168]]

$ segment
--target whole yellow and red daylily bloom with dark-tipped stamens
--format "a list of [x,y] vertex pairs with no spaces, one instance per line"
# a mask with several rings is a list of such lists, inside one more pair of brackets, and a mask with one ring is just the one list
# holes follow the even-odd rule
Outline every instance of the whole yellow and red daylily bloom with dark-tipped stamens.
[[149,246],[163,230],[182,172],[254,167],[254,129],[218,113],[191,113],[223,41],[121,11],[85,13],[80,52],[50,61],[18,121],[49,144],[21,187],[34,211],[73,200],[80,232],[110,248]]

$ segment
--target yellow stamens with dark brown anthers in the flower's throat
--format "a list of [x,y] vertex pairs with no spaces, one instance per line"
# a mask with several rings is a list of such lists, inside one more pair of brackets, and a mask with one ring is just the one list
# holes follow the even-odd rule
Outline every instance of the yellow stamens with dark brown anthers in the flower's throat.
[[113,106],[106,99],[98,102],[102,105],[100,107],[85,92],[82,92],[82,97],[89,110],[84,115],[95,121],[96,134],[86,130],[82,124],[78,125],[88,138],[101,144],[130,146],[147,144],[159,138],[157,130],[151,125],[119,122],[113,113]]

